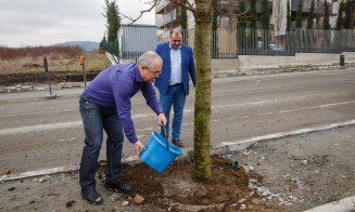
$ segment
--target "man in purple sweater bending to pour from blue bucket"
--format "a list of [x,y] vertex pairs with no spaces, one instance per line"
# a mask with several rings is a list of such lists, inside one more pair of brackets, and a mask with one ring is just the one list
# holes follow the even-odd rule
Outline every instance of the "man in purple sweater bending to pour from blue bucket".
[[157,115],[160,125],[166,118],[156,97],[152,81],[161,74],[162,58],[154,52],[145,52],[137,64],[117,64],[101,71],[80,96],[80,115],[85,131],[79,181],[81,196],[90,203],[103,202],[96,189],[94,174],[103,140],[107,134],[107,175],[104,187],[130,191],[132,188],[122,181],[122,148],[124,133],[132,144],[136,155],[144,148],[138,140],[131,119],[130,98],[141,91],[147,104]]

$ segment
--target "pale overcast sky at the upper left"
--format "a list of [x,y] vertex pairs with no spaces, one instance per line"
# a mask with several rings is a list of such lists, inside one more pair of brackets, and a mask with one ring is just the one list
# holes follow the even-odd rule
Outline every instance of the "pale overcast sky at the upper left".
[[[18,48],[66,41],[100,42],[105,31],[104,0],[0,0],[0,45]],[[119,12],[138,17],[145,0],[118,0]],[[128,24],[128,19],[123,19]],[[155,25],[154,11],[137,24]]]

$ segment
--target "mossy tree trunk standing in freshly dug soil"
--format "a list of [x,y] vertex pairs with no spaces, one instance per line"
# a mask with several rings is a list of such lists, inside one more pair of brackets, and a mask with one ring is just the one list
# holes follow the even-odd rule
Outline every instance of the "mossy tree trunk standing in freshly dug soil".
[[208,182],[211,172],[211,0],[195,0],[194,51],[196,62],[196,89],[194,103],[192,177],[195,182]]

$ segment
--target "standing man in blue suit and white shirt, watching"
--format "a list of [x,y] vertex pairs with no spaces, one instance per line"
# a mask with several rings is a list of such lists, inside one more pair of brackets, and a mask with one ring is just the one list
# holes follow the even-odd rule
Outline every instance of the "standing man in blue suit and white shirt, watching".
[[195,68],[193,52],[189,45],[181,43],[181,30],[175,28],[170,31],[169,42],[156,45],[155,52],[163,59],[163,69],[155,79],[155,87],[160,91],[160,101],[167,118],[165,132],[169,135],[169,115],[174,105],[173,144],[182,147],[180,130],[183,116],[186,96],[189,94],[189,76],[195,87]]

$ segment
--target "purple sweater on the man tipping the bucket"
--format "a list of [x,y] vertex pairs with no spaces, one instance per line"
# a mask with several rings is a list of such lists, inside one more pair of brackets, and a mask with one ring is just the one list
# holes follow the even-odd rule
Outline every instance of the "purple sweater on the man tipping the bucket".
[[132,63],[117,64],[102,70],[85,89],[85,94],[102,107],[116,107],[126,137],[135,143],[138,138],[130,116],[130,98],[139,90],[156,115],[163,110],[153,83],[144,82],[137,64]]

